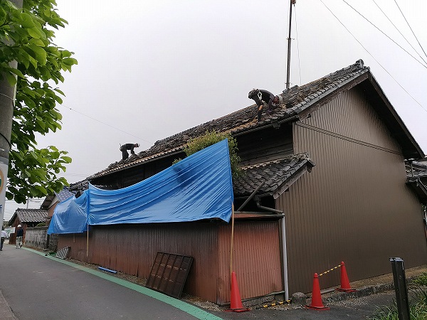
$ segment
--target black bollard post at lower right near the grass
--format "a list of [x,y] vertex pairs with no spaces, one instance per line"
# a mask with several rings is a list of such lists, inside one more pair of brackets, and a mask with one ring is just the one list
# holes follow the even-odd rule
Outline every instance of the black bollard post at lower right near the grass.
[[399,257],[390,258],[393,270],[394,291],[396,292],[399,320],[411,320],[409,315],[408,289],[406,289],[406,277],[404,260]]

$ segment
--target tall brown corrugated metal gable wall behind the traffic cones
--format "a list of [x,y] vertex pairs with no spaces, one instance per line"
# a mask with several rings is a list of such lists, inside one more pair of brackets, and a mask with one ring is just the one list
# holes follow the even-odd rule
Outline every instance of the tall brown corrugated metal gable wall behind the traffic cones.
[[[287,215],[290,292],[344,261],[350,281],[426,264],[421,205],[406,186],[404,157],[357,88],[294,124],[295,153],[315,162],[278,200]],[[320,278],[339,285],[339,269]]]

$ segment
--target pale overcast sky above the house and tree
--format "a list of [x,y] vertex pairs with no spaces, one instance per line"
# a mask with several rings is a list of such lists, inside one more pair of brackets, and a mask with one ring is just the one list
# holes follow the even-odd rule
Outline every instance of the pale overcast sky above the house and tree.
[[[253,87],[285,89],[289,0],[56,1],[68,26],[55,42],[78,65],[58,85],[63,129],[40,137],[38,147],[69,152],[70,183],[119,161],[120,144],[138,142],[135,151],[143,151],[252,105]],[[364,60],[426,153],[427,1],[396,2],[297,0],[290,82]],[[26,205],[6,201],[4,219],[18,207]]]

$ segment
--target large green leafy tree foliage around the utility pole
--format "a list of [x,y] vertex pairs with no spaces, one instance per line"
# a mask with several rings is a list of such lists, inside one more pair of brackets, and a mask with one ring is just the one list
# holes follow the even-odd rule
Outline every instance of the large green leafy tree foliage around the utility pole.
[[[18,203],[68,185],[57,177],[71,162],[67,151],[36,148],[37,133],[61,128],[56,103],[62,103],[63,92],[56,85],[63,82],[63,72],[77,64],[73,53],[53,43],[53,29],[67,23],[55,7],[55,0],[24,0],[22,9],[0,0],[0,74],[16,84],[6,197]],[[9,65],[13,60],[17,69]]]

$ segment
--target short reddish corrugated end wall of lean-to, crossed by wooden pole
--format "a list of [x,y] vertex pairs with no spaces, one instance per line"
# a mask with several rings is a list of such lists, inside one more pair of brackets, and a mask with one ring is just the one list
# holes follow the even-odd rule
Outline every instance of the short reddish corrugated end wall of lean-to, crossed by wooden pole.
[[[261,297],[283,290],[277,221],[236,220],[233,242],[233,271],[241,299]],[[230,301],[231,225],[219,230],[218,304]]]

